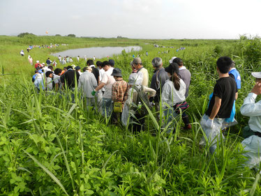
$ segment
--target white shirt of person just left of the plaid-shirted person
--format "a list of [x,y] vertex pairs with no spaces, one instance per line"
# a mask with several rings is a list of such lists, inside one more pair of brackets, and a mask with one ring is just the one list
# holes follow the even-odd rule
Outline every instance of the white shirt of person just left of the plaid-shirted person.
[[105,92],[103,97],[104,98],[112,98],[112,84],[115,81],[114,77],[112,76],[112,70],[113,68],[109,68],[105,73],[103,74],[103,79],[100,81],[102,83],[105,83]]

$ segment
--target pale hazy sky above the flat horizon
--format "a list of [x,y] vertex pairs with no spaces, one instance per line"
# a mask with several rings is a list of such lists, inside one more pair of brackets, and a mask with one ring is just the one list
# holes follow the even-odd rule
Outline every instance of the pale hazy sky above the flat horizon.
[[261,0],[0,0],[0,35],[144,39],[261,36]]

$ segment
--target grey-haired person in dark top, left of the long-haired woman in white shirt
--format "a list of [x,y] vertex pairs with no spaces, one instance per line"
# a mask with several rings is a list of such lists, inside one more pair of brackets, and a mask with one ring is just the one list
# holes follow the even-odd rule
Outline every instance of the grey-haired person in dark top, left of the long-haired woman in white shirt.
[[[159,57],[155,57],[151,61],[154,68],[154,75],[151,77],[151,89],[156,91],[156,96],[154,97],[155,109],[156,112],[160,111],[160,101],[161,93],[163,91],[163,85],[170,77],[167,75],[167,72],[163,68],[163,61]],[[152,100],[151,100],[152,101]],[[159,115],[157,115],[157,120],[159,121]]]

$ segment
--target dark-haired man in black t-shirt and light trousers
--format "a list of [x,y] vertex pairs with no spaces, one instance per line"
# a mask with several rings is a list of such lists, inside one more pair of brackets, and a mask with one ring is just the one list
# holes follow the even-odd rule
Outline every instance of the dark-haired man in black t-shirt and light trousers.
[[[214,153],[216,142],[221,135],[221,126],[230,117],[234,100],[237,99],[237,84],[228,75],[232,60],[228,56],[221,56],[216,61],[219,79],[214,86],[214,93],[207,112],[200,122],[204,133],[211,144],[209,151]],[[223,137],[223,135],[222,135]]]

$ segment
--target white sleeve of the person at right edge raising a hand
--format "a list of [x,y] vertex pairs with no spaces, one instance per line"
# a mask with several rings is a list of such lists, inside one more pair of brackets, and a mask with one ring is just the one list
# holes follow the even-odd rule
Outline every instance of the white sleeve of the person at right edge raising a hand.
[[255,103],[257,95],[255,93],[248,93],[243,105],[240,108],[240,112],[244,116],[261,116],[261,100]]

